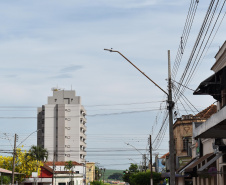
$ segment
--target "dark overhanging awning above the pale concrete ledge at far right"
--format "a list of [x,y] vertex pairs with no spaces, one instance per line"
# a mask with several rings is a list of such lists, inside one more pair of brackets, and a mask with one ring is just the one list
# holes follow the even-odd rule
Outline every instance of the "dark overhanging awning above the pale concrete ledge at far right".
[[200,83],[194,95],[211,95],[221,101],[221,90],[226,88],[226,66]]

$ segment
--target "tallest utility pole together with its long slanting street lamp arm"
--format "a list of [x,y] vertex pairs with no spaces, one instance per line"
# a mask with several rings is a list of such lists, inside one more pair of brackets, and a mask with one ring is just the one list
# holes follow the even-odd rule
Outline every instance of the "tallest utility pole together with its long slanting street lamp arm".
[[140,73],[142,73],[148,80],[150,80],[155,86],[157,86],[162,92],[168,97],[168,110],[169,110],[169,134],[170,134],[170,185],[175,185],[175,163],[174,163],[174,136],[173,136],[173,107],[174,102],[172,101],[172,84],[171,84],[171,67],[170,67],[170,51],[168,50],[168,85],[169,92],[164,91],[158,84],[156,84],[151,78],[149,78],[143,71],[141,71],[136,65],[134,65],[128,58],[122,53],[113,49],[104,49],[110,52],[116,52],[126,59],[133,67],[135,67]]

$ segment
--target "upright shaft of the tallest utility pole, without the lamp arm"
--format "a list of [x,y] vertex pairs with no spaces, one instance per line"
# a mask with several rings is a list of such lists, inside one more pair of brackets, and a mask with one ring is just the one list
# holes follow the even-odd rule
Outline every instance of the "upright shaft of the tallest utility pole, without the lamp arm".
[[175,184],[175,163],[174,163],[174,136],[173,136],[173,107],[172,100],[172,83],[171,83],[171,64],[170,64],[170,50],[168,50],[168,109],[169,109],[169,136],[170,136],[170,184]]

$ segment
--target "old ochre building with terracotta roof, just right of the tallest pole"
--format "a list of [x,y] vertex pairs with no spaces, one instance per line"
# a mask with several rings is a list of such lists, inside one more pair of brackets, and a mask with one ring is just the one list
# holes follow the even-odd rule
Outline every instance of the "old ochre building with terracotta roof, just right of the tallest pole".
[[174,123],[176,170],[178,173],[176,175],[177,185],[187,185],[193,181],[191,176],[180,175],[181,169],[192,160],[193,123],[202,124],[216,112],[217,106],[212,104],[196,115],[183,115],[181,118],[177,118]]

